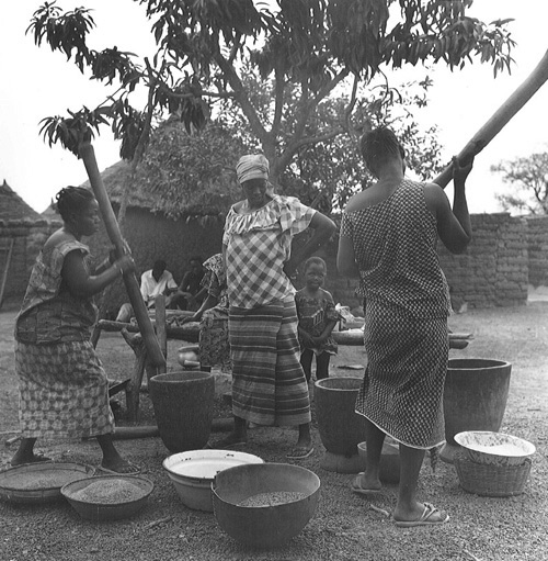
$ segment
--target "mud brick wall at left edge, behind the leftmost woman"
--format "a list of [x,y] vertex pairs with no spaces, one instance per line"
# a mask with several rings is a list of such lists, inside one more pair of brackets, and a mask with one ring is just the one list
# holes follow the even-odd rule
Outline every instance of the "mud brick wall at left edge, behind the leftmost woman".
[[3,278],[10,239],[14,239],[3,294],[3,306],[18,306],[25,295],[28,277],[45,240],[61,226],[59,221],[0,221],[0,280]]

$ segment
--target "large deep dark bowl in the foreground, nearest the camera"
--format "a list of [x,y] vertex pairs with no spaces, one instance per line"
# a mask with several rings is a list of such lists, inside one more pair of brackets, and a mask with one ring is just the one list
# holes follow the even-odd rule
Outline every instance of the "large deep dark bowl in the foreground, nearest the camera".
[[260,463],[221,471],[212,484],[215,518],[233,539],[253,548],[282,546],[316,513],[320,479],[289,463]]

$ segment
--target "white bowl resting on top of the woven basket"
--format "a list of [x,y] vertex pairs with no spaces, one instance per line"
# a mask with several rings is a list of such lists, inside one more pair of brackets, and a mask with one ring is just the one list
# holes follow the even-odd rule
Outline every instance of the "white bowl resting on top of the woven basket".
[[536,451],[535,445],[523,438],[487,430],[458,433],[455,441],[471,461],[488,465],[521,465]]

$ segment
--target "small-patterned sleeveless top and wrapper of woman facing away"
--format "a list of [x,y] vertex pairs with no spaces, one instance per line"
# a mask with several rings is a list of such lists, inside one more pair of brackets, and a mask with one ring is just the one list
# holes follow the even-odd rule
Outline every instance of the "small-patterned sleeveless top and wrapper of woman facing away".
[[385,201],[343,214],[365,295],[367,370],[356,412],[412,448],[445,440],[449,298],[424,184],[403,180]]

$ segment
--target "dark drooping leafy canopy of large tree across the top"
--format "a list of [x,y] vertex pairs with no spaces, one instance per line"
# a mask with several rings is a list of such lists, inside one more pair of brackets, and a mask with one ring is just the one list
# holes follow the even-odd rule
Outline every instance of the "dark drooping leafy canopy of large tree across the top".
[[[351,116],[359,108],[359,88],[389,68],[444,63],[454,69],[476,58],[496,75],[512,63],[510,20],[486,24],[468,16],[472,0],[135,1],[145,7],[158,46],[141,61],[117,47],[90,48],[94,22],[87,8],[64,13],[55,1],[45,3],[27,30],[37,45],[64,53],[90,79],[116,85],[95,109],[46,117],[45,138],[77,154],[85,136],[109,125],[134,170],[162,114],[179,114],[191,132],[206,124],[220,100],[232,99],[276,180],[304,149],[355,136]],[[266,114],[246,88],[248,65],[273,80]],[[129,98],[142,86],[148,97],[138,110]],[[339,112],[344,119],[323,126],[323,105],[341,88],[351,92]]]

